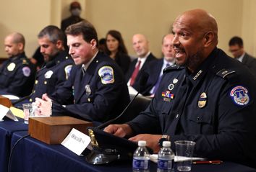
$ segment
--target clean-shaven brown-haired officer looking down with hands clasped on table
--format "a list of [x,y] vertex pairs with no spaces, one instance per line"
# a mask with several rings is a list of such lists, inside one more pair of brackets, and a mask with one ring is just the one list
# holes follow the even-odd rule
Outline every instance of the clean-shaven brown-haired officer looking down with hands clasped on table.
[[[89,22],[67,27],[67,45],[74,59],[69,79],[51,96],[36,99],[42,114],[69,115],[104,122],[121,113],[129,102],[121,68],[98,51],[98,37]],[[74,102],[68,100],[73,97]]]

